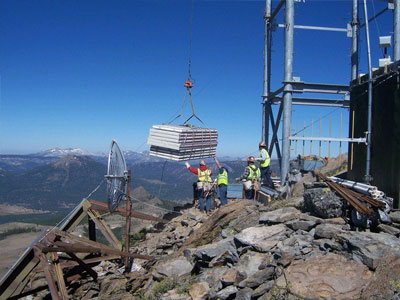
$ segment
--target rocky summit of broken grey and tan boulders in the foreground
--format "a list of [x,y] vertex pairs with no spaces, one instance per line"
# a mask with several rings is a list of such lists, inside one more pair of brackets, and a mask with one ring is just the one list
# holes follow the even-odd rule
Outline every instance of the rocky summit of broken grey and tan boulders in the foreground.
[[[319,199],[315,205],[312,194]],[[135,260],[130,272],[124,272],[120,260],[102,262],[94,267],[97,280],[77,280],[69,295],[98,300],[400,299],[398,213],[392,225],[360,232],[337,217],[336,204],[321,217],[324,199],[332,197],[322,190],[306,193],[305,201],[269,206],[233,200],[210,216],[195,208],[182,210],[163,228],[147,228],[143,240],[131,247],[154,260]],[[43,281],[44,275],[37,274],[31,287]]]

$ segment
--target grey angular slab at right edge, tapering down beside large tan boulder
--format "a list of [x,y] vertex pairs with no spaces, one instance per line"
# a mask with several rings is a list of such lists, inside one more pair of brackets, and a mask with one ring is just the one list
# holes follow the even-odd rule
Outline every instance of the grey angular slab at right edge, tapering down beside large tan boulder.
[[337,235],[339,242],[370,269],[375,269],[384,255],[400,252],[400,239],[387,233],[349,231]]

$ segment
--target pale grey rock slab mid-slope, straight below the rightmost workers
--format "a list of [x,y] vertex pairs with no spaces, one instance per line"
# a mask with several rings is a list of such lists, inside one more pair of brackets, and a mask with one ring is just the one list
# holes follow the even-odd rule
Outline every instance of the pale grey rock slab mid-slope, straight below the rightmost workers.
[[249,227],[235,235],[235,242],[251,246],[260,252],[271,250],[283,238],[287,227],[283,224],[262,227]]

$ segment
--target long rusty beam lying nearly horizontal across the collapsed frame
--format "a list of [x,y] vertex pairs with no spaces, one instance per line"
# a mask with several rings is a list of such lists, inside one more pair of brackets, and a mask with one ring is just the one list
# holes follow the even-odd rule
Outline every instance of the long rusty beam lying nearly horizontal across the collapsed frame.
[[141,254],[134,254],[134,253],[128,253],[128,252],[123,252],[120,250],[116,249],[111,249],[111,248],[98,248],[98,247],[93,247],[93,246],[82,246],[82,245],[76,245],[76,244],[70,244],[70,243],[64,243],[64,242],[54,242],[54,245],[56,247],[43,247],[42,251],[47,253],[47,252],[75,252],[75,253],[101,253],[101,254],[112,254],[112,255],[119,255],[119,256],[129,256],[133,258],[140,258],[140,259],[146,259],[146,260],[152,260],[152,256],[148,255],[141,255]]

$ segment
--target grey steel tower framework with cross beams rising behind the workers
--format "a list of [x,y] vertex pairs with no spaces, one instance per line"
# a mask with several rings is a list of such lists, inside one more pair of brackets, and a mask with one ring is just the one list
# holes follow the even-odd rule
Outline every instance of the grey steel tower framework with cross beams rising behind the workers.
[[[279,165],[281,169],[281,185],[286,183],[287,174],[289,172],[290,160],[290,141],[297,137],[291,136],[292,125],[292,105],[307,106],[326,106],[326,107],[342,107],[350,106],[348,97],[352,84],[358,78],[359,65],[359,32],[364,24],[359,21],[359,1],[352,0],[352,20],[347,28],[332,28],[321,26],[295,25],[294,23],[294,4],[298,0],[280,0],[274,9],[272,9],[272,0],[265,2],[264,16],[264,85],[262,94],[262,140],[268,145],[270,156],[276,149]],[[276,16],[285,5],[285,24],[276,25]],[[388,9],[393,9],[393,32],[394,32],[394,61],[400,60],[400,0],[388,1]],[[370,18],[374,20],[382,15],[386,10],[378,12]],[[275,27],[284,28],[285,30],[285,57],[284,57],[284,81],[282,87],[275,91],[271,91],[271,61],[272,61],[272,32]],[[351,81],[349,85],[326,84],[326,83],[306,83],[301,82],[293,77],[293,52],[294,52],[294,29],[305,30],[323,30],[336,31],[346,33],[351,37]],[[293,94],[337,94],[344,96],[344,99],[328,99],[328,98],[309,98],[309,97],[293,97]],[[274,116],[272,105],[279,104],[279,110]],[[282,144],[278,141],[278,129],[283,119],[282,128]],[[269,129],[271,125],[272,137],[270,139]],[[282,151],[281,151],[282,148]]]

